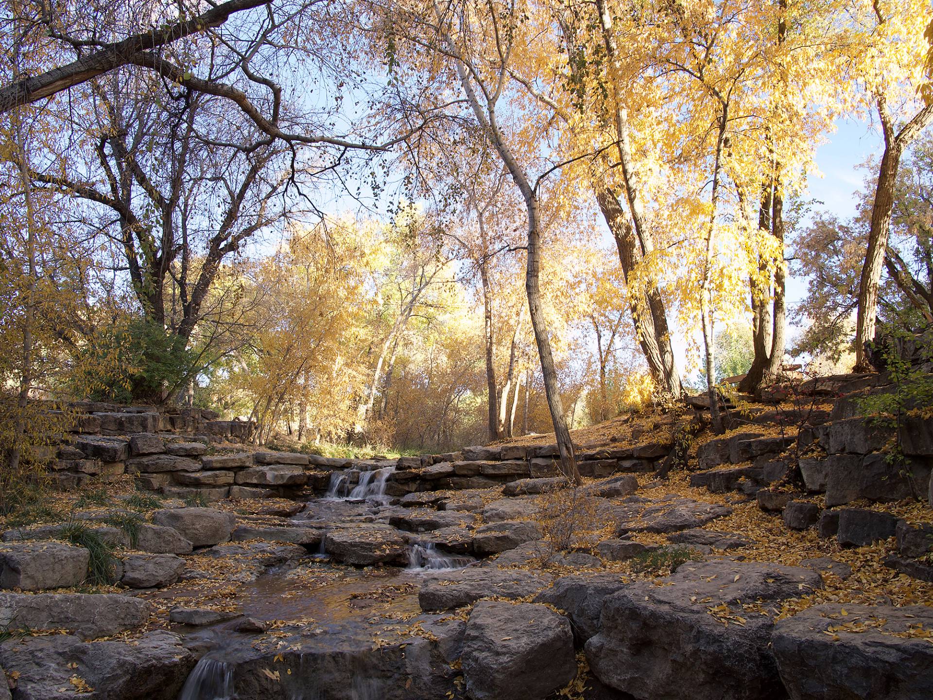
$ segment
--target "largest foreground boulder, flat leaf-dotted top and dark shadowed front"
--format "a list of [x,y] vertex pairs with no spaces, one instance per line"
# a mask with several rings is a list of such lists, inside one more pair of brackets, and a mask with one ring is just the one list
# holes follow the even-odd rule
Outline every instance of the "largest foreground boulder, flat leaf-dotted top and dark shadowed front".
[[[602,630],[586,643],[596,677],[639,700],[777,700],[769,648],[773,603],[820,586],[800,567],[714,560],[606,597]],[[730,622],[731,619],[731,622]],[[727,624],[728,623],[728,624]]]

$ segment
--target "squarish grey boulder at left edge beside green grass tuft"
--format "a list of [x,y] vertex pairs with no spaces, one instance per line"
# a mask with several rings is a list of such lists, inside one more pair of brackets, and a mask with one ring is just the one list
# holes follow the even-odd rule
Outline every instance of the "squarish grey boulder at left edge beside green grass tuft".
[[61,542],[0,545],[0,588],[41,591],[76,586],[88,575],[91,553]]

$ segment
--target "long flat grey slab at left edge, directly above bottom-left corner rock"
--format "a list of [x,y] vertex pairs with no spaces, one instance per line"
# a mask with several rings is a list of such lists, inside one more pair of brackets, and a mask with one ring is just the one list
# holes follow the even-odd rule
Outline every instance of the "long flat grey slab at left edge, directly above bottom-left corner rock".
[[115,635],[149,618],[146,601],[130,595],[0,593],[0,627],[66,629],[80,637]]

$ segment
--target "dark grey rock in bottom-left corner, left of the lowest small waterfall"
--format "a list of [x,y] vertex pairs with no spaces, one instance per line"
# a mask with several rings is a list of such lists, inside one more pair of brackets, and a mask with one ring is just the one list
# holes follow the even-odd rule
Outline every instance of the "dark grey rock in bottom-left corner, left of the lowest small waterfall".
[[[195,658],[182,646],[181,637],[158,630],[132,643],[27,637],[0,646],[0,664],[18,673],[17,700],[175,700]],[[94,692],[77,693],[70,682],[73,677],[83,679]],[[6,687],[2,673],[0,684]]]

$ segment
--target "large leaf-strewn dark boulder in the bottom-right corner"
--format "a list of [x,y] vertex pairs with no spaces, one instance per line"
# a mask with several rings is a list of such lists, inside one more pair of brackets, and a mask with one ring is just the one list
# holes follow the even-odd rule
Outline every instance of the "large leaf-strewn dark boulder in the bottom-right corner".
[[[933,609],[844,607],[845,616],[840,605],[821,605],[776,623],[774,658],[791,699],[933,697],[933,644],[895,637],[917,624],[933,628]],[[876,626],[879,619],[884,625]],[[845,623],[867,623],[867,629],[848,632]]]

